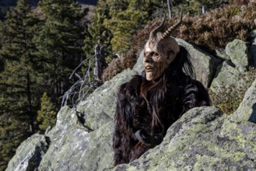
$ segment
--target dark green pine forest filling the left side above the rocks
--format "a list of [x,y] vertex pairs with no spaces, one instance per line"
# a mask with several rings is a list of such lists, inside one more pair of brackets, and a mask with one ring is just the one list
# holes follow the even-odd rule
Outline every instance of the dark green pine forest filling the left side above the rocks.
[[[84,26],[79,19],[86,11],[68,0],[45,0],[40,5],[44,20],[33,16],[26,0],[19,0],[0,27],[0,170],[19,143],[38,130],[34,125],[43,92],[50,92],[54,100],[55,106],[48,107],[54,111],[59,107],[68,76],[82,56]],[[46,114],[44,105],[39,115]],[[54,121],[41,119],[42,129]]]

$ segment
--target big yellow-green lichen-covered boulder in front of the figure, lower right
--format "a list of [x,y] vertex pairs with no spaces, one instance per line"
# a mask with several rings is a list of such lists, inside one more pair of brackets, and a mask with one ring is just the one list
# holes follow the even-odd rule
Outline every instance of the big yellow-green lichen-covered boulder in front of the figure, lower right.
[[114,170],[253,170],[256,125],[226,120],[214,106],[189,110],[160,145]]

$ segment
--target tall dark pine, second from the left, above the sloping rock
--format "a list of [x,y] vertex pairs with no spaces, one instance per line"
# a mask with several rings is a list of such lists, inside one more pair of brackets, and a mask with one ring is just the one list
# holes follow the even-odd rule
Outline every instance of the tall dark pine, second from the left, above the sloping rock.
[[75,0],[43,0],[39,5],[45,23],[35,38],[37,55],[44,58],[48,93],[59,107],[59,97],[71,83],[68,77],[83,56],[85,26],[79,22],[87,9],[82,10]]

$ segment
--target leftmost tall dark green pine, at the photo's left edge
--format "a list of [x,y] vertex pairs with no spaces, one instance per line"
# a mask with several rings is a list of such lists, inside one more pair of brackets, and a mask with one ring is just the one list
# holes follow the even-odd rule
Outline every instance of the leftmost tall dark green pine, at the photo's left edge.
[[[3,98],[2,113],[19,111],[17,115],[30,117],[30,126],[33,131],[33,100],[38,89],[34,86],[37,82],[37,72],[33,61],[35,47],[32,38],[36,29],[37,19],[33,18],[30,5],[26,0],[19,0],[16,7],[12,8],[6,16],[2,27],[2,49],[0,55],[5,63],[1,72],[0,83],[2,89],[0,96]],[[16,103],[12,104],[13,101]],[[1,104],[0,104],[1,105]]]

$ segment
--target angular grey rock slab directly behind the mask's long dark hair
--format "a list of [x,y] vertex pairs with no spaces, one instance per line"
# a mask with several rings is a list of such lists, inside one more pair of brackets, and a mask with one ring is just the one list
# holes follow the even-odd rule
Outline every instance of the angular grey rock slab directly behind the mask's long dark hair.
[[215,58],[211,54],[202,51],[199,47],[196,47],[188,42],[176,39],[178,44],[184,46],[189,54],[191,54],[191,63],[195,68],[196,79],[207,88],[210,86],[214,77],[216,66],[219,64],[219,59]]

